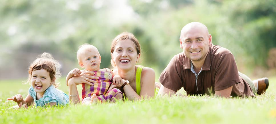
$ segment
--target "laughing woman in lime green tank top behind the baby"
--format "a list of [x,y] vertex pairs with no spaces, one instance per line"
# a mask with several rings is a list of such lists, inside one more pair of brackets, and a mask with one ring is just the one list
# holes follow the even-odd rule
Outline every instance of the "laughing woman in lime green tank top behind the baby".
[[129,81],[122,82],[121,89],[130,100],[150,98],[155,95],[155,72],[152,68],[136,66],[141,55],[139,41],[132,33],[123,32],[111,45],[111,64],[114,74]]

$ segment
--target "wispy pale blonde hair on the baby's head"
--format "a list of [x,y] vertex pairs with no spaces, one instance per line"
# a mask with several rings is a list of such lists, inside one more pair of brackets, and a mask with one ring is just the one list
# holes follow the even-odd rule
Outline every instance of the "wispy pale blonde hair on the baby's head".
[[98,51],[98,49],[95,47],[95,46],[93,46],[93,45],[91,45],[91,44],[88,44],[88,43],[84,43],[83,45],[80,45],[79,47],[78,47],[78,52],[77,52],[77,59],[78,59],[78,62],[81,62],[81,57],[82,57],[82,55],[86,52],[86,51],[92,51],[92,49],[96,49],[97,50],[97,52],[98,52],[98,54],[99,54],[99,56],[100,56],[100,52]]

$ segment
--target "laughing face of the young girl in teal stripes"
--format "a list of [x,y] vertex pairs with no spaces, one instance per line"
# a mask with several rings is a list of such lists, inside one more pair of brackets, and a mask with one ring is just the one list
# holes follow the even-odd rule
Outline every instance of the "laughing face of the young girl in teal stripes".
[[52,84],[50,73],[45,69],[34,70],[32,73],[32,86],[37,93],[44,93]]

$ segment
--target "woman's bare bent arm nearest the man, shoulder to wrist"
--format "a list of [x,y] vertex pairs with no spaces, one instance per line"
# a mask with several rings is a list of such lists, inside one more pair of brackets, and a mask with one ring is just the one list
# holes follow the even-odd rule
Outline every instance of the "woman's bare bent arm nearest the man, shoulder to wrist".
[[154,97],[155,72],[152,68],[143,68],[141,73],[141,91],[140,96],[132,89],[130,85],[124,86],[124,92],[130,100],[140,100],[142,98]]

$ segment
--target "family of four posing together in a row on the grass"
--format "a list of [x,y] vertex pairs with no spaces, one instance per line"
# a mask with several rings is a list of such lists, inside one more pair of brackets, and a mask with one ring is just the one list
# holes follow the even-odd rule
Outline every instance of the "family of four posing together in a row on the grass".
[[[51,54],[41,54],[29,67],[31,83],[29,94],[23,99],[17,94],[8,100],[17,102],[14,108],[36,106],[63,106],[71,103],[93,104],[115,102],[122,98],[140,100],[158,95],[174,95],[184,88],[187,95],[215,95],[255,97],[265,93],[268,78],[251,81],[238,72],[233,54],[223,47],[212,44],[207,27],[199,22],[184,26],[180,33],[180,48],[183,52],[175,55],[159,81],[155,82],[152,68],[136,65],[141,48],[136,37],[123,32],[115,37],[111,45],[112,70],[100,69],[101,56],[96,47],[81,45],[77,60],[81,68],[71,70],[66,77],[69,96],[56,89],[56,78],[60,76],[60,64]],[[82,84],[82,100],[76,85]],[[158,92],[159,91],[159,92]]]

